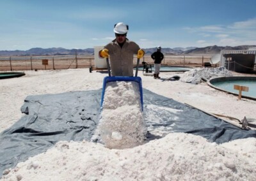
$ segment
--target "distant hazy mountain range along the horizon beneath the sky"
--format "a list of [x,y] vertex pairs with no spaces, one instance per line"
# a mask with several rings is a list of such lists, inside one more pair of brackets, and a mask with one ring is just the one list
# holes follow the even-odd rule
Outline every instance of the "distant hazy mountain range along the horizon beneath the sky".
[[[209,46],[203,48],[187,47],[187,48],[162,48],[163,54],[170,55],[202,55],[202,54],[220,54],[221,50],[248,50],[256,49],[256,45],[241,45],[237,47],[219,47]],[[156,51],[156,48],[143,48],[145,54],[150,55]],[[0,56],[35,56],[35,55],[93,55],[94,48],[86,49],[66,49],[66,48],[31,48],[29,50],[0,50]]]

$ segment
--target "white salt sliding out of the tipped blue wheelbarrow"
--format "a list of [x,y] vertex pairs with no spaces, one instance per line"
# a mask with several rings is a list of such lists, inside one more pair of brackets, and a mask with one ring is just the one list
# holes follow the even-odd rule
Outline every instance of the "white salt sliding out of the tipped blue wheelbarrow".
[[145,140],[138,82],[108,82],[97,132],[108,148],[132,148]]

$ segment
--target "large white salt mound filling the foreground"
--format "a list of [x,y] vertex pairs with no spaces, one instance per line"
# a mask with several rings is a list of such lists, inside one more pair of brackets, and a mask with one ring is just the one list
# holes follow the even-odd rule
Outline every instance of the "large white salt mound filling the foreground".
[[5,170],[3,180],[255,180],[256,151],[239,152],[243,140],[235,141],[227,148],[201,136],[170,133],[124,150],[60,141]]

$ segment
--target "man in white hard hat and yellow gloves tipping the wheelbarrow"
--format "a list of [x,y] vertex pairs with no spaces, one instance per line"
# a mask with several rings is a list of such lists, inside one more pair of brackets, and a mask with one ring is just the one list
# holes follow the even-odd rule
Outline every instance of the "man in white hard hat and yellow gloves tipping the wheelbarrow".
[[115,40],[99,51],[99,56],[110,60],[111,76],[133,76],[133,55],[138,59],[145,54],[134,41],[126,38],[128,25],[123,22],[115,24]]

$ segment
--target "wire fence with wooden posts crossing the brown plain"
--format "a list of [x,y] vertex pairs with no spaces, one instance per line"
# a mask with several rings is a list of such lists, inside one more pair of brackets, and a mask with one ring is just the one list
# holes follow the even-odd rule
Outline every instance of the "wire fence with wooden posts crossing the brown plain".
[[[104,59],[102,59],[104,61]],[[154,64],[150,55],[140,60],[147,64]],[[205,66],[211,61],[211,55],[164,55],[162,64],[168,66]],[[134,66],[137,58],[134,55]],[[59,56],[29,56],[29,57],[0,57],[0,71],[37,70],[37,69],[74,69],[93,68],[94,55],[59,55]]]

